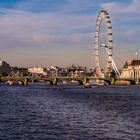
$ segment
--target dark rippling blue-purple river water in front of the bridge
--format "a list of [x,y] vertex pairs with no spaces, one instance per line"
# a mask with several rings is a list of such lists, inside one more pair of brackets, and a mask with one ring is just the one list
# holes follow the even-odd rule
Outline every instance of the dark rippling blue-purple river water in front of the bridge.
[[140,140],[140,86],[0,86],[0,140]]

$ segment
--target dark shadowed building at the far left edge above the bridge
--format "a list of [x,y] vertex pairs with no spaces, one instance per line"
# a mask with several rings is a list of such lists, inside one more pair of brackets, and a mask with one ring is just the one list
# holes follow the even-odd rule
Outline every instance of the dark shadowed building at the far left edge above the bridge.
[[1,75],[5,75],[5,74],[7,75],[10,72],[11,72],[11,66],[7,62],[0,59],[0,74]]

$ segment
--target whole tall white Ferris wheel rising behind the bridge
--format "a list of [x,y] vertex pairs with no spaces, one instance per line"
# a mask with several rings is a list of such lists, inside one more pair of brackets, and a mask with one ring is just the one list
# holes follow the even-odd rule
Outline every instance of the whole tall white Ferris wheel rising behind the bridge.
[[[106,26],[106,39],[101,43],[101,25],[105,21]],[[103,71],[101,70],[101,59],[100,59],[100,49],[105,49],[106,60],[102,60],[105,63]],[[95,64],[96,73],[99,77],[108,77],[111,72],[112,54],[113,54],[113,37],[112,37],[112,26],[111,20],[108,12],[106,10],[101,10],[96,19],[96,28],[94,36],[94,49],[95,49]]]

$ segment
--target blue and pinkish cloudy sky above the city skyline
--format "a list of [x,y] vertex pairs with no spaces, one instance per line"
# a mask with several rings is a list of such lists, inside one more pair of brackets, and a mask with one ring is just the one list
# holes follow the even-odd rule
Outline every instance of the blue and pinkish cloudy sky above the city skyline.
[[19,67],[92,68],[101,9],[111,17],[116,65],[140,57],[140,0],[0,0],[0,58]]

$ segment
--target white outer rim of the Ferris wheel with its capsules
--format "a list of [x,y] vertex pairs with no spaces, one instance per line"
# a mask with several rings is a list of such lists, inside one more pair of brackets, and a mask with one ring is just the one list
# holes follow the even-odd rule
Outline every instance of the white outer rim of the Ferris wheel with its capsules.
[[[107,54],[107,63],[105,66],[104,73],[101,71],[100,59],[99,59],[99,48],[101,46],[99,42],[99,38],[100,38],[100,29],[101,29],[102,19],[105,19],[105,22],[106,22],[106,32],[107,32],[107,38],[108,38],[107,45],[105,44],[108,54]],[[95,29],[95,36],[94,36],[96,70],[99,72],[101,76],[108,75],[111,70],[111,61],[112,61],[112,54],[113,54],[112,34],[113,33],[112,33],[110,16],[106,10],[101,10],[96,19],[96,29]]]

